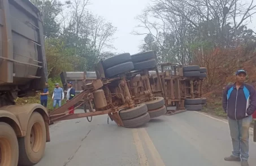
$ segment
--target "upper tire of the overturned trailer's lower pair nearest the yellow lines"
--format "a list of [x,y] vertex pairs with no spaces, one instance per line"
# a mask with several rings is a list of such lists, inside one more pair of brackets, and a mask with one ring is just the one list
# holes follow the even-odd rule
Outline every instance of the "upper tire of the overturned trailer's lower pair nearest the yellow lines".
[[135,117],[141,116],[147,112],[147,106],[144,103],[135,104],[134,108],[128,110],[119,111],[119,116],[122,120],[133,119]]

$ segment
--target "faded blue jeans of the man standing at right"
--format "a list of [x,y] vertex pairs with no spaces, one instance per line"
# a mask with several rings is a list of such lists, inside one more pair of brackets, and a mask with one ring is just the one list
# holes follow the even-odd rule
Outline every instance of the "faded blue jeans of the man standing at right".
[[232,138],[233,151],[232,155],[240,157],[242,160],[249,158],[249,128],[252,116],[245,117],[241,120],[233,120],[228,118],[230,135]]

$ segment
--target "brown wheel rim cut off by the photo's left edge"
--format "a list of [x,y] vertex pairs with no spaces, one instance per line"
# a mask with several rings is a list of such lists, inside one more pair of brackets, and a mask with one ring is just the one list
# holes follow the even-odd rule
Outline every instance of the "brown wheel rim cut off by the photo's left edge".
[[11,165],[11,143],[5,137],[0,137],[0,165]]

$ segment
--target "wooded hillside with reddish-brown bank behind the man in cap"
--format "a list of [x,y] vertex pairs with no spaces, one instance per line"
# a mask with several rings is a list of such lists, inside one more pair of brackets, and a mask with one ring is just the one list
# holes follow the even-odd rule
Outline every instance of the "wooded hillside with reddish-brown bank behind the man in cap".
[[237,69],[256,85],[256,33],[248,27],[255,14],[254,0],[155,0],[137,16],[133,34],[146,35],[140,49],[155,50],[159,63],[206,67],[207,105],[222,115],[222,90]]

